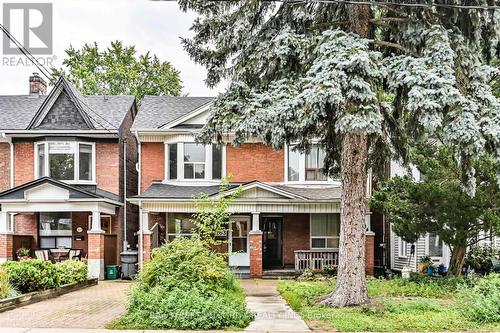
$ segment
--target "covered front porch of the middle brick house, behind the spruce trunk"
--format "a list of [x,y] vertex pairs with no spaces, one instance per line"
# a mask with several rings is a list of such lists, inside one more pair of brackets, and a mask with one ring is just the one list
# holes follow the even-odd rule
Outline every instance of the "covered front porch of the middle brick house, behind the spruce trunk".
[[[173,185],[162,186],[170,190]],[[300,274],[305,269],[322,270],[327,265],[338,265],[338,188],[312,188],[300,194],[300,189],[289,188],[254,182],[244,185],[242,195],[230,205],[233,213],[230,226],[219,236],[227,242],[219,250],[231,253],[229,264],[241,276]],[[311,198],[312,195],[316,197]],[[141,212],[139,236],[143,240],[140,244],[143,260],[149,259],[152,248],[175,237],[190,236],[194,228],[191,216],[196,211],[192,199],[141,198],[137,203]],[[367,274],[372,275],[374,234],[370,231],[370,215],[365,222]]]

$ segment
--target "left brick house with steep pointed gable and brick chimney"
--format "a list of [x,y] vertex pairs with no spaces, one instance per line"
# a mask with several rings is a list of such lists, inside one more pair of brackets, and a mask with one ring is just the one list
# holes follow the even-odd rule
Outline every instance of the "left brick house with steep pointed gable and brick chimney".
[[46,91],[35,73],[29,95],[0,96],[0,261],[80,249],[103,278],[137,243],[135,98],[85,96],[64,78]]

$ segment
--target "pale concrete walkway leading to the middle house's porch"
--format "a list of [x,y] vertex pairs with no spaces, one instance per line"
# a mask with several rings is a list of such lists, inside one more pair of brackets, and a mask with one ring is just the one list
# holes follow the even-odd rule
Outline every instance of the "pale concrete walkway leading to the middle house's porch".
[[300,316],[293,311],[276,290],[276,280],[242,280],[248,308],[256,313],[245,331],[310,332]]

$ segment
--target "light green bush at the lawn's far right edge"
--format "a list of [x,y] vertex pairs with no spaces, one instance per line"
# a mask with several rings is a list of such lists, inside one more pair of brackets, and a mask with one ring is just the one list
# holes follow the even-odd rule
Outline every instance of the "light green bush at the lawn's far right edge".
[[482,323],[499,323],[500,274],[485,276],[471,288],[461,287],[457,300],[467,318]]

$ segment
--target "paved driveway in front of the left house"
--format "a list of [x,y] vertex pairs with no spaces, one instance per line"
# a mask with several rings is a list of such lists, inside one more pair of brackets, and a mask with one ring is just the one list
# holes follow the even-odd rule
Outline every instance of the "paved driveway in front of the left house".
[[97,286],[0,313],[0,328],[103,328],[125,312],[127,281]]

